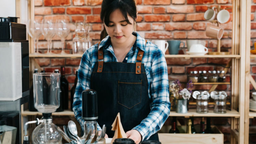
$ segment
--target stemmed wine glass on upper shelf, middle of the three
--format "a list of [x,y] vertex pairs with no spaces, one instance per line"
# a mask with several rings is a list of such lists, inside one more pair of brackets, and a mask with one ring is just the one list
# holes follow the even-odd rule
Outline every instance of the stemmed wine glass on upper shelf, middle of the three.
[[51,40],[55,35],[55,30],[54,30],[54,22],[53,20],[42,20],[42,33],[47,40],[47,53],[46,54],[52,54],[51,50]]

